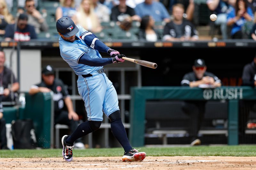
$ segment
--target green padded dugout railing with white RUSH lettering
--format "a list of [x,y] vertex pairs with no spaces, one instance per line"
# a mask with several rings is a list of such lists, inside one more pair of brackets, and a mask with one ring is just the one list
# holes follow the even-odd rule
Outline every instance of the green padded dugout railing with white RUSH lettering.
[[[133,146],[144,146],[146,100],[227,100],[228,144],[238,144],[238,101],[255,100],[256,89],[249,86],[223,86],[215,89],[190,87],[132,87],[129,138]],[[157,131],[155,131],[157,133]],[[162,133],[163,132],[159,132]],[[224,133],[224,132],[223,132]],[[167,134],[167,132],[166,132]]]

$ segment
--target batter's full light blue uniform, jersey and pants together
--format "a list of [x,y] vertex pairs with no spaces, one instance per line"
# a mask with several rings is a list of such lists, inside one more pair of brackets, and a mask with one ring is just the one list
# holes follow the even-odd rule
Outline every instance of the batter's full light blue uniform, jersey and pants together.
[[[112,82],[108,79],[105,73],[98,73],[97,70],[102,67],[93,67],[84,64],[79,64],[78,60],[84,53],[91,58],[102,58],[98,50],[92,45],[88,46],[84,42],[86,35],[92,34],[86,31],[83,27],[77,25],[79,32],[76,33],[74,42],[65,41],[59,38],[60,55],[64,61],[75,71],[78,75],[77,88],[79,94],[84,100],[84,106],[87,112],[87,119],[89,121],[102,121],[102,111],[107,117],[119,110],[117,94]],[[92,74],[91,77],[84,78],[82,75]]]

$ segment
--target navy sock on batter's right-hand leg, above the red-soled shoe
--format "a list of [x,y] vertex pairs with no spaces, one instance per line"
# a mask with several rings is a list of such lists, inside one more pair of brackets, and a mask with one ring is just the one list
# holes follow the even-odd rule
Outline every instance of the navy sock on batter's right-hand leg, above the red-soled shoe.
[[110,122],[111,131],[118,142],[123,146],[124,151],[130,151],[132,146],[129,143],[121,118]]

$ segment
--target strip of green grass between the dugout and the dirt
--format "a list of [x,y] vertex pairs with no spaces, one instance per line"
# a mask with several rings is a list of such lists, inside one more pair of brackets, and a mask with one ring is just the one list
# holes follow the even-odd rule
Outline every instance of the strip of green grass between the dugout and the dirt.
[[[142,147],[147,156],[256,156],[256,145],[194,146],[194,147]],[[0,158],[61,157],[61,149],[0,150]],[[74,149],[74,157],[123,156],[123,148]]]

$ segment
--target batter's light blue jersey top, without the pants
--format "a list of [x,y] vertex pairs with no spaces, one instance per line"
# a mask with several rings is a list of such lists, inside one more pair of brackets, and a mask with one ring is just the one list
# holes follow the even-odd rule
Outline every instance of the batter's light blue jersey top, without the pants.
[[78,40],[74,42],[65,41],[63,38],[59,38],[60,55],[64,61],[75,71],[76,75],[89,74],[92,71],[99,70],[102,67],[92,67],[84,64],[78,64],[78,60],[84,53],[90,55],[91,58],[102,58],[99,51],[88,46],[83,38],[86,34],[90,33],[86,31],[82,26],[77,25],[79,28],[76,37]]

